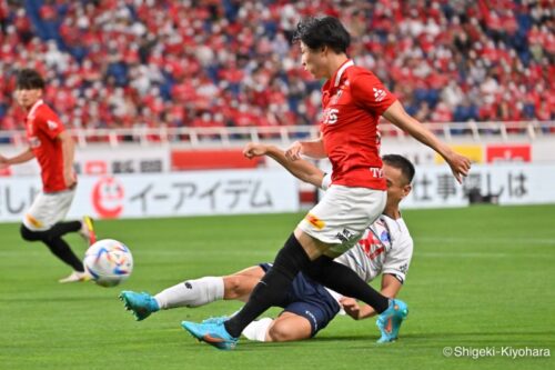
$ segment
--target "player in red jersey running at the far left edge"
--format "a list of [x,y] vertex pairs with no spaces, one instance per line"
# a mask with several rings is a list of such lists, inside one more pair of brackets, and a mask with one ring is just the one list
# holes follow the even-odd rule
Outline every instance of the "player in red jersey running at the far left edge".
[[21,224],[21,237],[28,241],[42,241],[60,260],[73,268],[60,282],[84,281],[89,277],[83,263],[62,239],[68,232],[80,232],[89,242],[95,241],[92,220],[61,222],[75,194],[77,177],[73,171],[73,139],[65,131],[58,114],[42,101],[44,80],[34,70],[20,71],[16,99],[26,110],[26,130],[29,148],[18,156],[0,156],[0,166],[18,164],[37,158],[42,179],[42,191],[27,211]]

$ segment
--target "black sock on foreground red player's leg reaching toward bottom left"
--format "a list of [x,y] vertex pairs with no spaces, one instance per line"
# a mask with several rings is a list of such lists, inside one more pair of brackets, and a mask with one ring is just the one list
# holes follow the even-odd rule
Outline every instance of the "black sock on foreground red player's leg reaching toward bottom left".
[[225,321],[225,330],[239,338],[243,329],[272,306],[283,301],[291,282],[299,271],[310,264],[309,256],[294,234],[275,257],[274,264],[256,284],[246,304],[230,320]]

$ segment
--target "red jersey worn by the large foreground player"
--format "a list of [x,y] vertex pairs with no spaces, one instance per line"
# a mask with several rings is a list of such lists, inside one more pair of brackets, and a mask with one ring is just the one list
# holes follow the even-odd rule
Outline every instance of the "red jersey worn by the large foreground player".
[[370,71],[347,60],[322,87],[320,120],[332,183],[386,190],[380,158],[380,116],[396,101]]

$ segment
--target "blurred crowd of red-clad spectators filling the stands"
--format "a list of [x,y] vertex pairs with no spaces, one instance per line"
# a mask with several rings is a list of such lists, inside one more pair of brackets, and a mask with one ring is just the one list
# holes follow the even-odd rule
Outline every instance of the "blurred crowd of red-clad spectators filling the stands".
[[291,43],[339,17],[349,51],[425,122],[555,119],[552,0],[0,0],[1,129],[21,68],[74,128],[311,124],[321,81]]

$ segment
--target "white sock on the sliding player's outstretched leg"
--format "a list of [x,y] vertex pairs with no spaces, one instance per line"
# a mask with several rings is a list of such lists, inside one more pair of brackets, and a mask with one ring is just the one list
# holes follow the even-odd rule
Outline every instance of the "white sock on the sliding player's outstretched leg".
[[154,296],[161,310],[199,307],[223,299],[223,278],[205,277],[186,280]]

